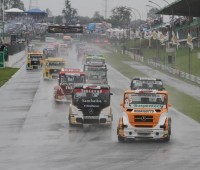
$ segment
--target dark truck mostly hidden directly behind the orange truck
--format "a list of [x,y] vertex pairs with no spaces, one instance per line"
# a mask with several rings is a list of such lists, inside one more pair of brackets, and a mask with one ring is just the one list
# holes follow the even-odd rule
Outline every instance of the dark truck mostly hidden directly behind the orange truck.
[[148,78],[148,77],[134,77],[130,84],[131,90],[137,89],[154,89],[154,90],[164,90],[163,82],[158,78]]

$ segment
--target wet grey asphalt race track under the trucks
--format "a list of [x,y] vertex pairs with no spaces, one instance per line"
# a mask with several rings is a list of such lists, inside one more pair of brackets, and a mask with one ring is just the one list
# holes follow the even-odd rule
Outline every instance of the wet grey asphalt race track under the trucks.
[[[82,68],[74,50],[68,67]],[[25,65],[0,88],[1,170],[198,170],[200,126],[171,108],[169,143],[118,143],[116,127],[129,80],[109,67],[114,121],[111,128],[69,127],[69,104],[53,100],[56,81]]]

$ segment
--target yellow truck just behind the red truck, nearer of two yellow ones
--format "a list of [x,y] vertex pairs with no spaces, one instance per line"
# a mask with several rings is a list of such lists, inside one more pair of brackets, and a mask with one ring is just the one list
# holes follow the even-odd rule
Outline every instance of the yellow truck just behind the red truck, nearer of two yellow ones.
[[44,79],[56,79],[61,68],[65,67],[65,61],[63,58],[48,58],[44,60],[43,78]]

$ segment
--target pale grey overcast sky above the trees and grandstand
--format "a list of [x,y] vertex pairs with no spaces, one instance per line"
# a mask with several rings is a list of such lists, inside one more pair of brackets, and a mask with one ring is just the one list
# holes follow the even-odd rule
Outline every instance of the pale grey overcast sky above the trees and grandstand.
[[[31,0],[22,0],[24,2],[25,8],[29,9],[29,2]],[[167,5],[167,2],[171,3],[175,0],[152,0],[154,3],[158,4],[161,7]],[[45,10],[49,8],[53,15],[59,15],[64,8],[65,0],[32,0],[32,4],[35,5],[38,2],[40,9]],[[92,17],[95,11],[99,11],[101,15],[105,16],[105,2],[106,0],[71,0],[71,5],[73,8],[78,10],[78,14],[81,16]],[[149,11],[149,7],[146,5],[151,5],[158,7],[157,5],[148,2],[148,0],[107,0],[107,16],[110,15],[110,11],[116,6],[128,6],[136,8],[142,19],[146,19],[146,13]],[[135,11],[136,12],[136,11]],[[139,17],[139,14],[137,14]]]

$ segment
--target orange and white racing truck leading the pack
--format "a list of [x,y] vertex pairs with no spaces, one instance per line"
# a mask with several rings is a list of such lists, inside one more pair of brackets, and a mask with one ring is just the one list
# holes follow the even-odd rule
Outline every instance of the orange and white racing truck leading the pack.
[[122,116],[117,127],[118,141],[160,140],[168,142],[171,117],[168,92],[127,90],[121,102]]

